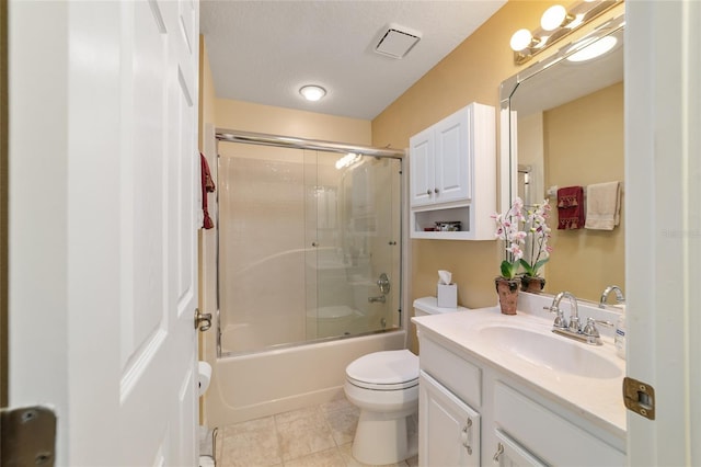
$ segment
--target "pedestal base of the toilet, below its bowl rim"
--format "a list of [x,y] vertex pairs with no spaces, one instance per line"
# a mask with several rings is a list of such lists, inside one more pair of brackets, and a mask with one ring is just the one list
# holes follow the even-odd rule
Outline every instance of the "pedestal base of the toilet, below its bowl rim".
[[363,464],[384,465],[395,464],[418,452],[416,438],[410,440],[407,418],[415,410],[405,413],[360,411],[358,428],[353,440],[353,457]]

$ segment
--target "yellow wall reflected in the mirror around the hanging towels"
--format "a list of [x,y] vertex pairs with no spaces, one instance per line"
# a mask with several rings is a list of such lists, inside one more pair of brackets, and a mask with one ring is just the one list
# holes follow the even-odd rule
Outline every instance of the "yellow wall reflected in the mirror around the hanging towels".
[[[543,128],[547,186],[623,181],[622,82],[544,112]],[[545,291],[567,289],[596,300],[606,286],[623,286],[625,213],[621,209],[621,225],[611,231],[556,230],[552,206],[554,251],[545,266]]]

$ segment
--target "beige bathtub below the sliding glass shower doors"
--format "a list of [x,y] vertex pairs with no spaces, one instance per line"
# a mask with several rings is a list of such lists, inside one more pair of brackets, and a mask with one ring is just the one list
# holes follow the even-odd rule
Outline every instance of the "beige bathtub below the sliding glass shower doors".
[[342,397],[350,362],[370,352],[404,349],[405,340],[404,330],[392,330],[215,358],[204,403],[207,425],[226,426]]

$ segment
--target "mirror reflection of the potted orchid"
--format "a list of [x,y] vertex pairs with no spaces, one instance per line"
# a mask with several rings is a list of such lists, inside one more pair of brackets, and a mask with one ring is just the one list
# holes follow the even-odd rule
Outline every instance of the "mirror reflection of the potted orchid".
[[545,280],[540,277],[540,269],[550,260],[552,247],[548,244],[550,238],[550,201],[536,204],[528,209],[525,219],[526,251],[519,260],[524,267],[521,276],[521,291],[539,293],[545,286]]

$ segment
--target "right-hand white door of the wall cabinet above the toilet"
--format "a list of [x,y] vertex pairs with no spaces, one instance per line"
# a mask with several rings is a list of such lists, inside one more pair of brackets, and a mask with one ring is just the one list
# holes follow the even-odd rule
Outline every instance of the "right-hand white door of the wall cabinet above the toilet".
[[470,107],[462,109],[435,125],[436,203],[472,197],[469,130]]

